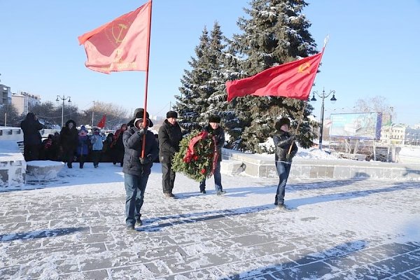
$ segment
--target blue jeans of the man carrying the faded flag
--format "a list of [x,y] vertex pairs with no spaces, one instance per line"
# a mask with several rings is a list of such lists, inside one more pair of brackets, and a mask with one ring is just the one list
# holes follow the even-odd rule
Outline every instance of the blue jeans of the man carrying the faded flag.
[[144,176],[124,174],[125,223],[127,225],[134,225],[141,216],[140,209],[143,206],[147,180],[148,174]]

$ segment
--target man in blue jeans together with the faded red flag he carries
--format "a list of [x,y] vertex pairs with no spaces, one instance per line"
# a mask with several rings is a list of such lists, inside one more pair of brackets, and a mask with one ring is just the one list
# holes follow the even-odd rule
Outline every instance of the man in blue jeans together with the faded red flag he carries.
[[[151,37],[152,1],[136,10],[78,37],[85,47],[85,66],[93,71],[146,71],[144,109],[134,113],[130,129],[123,134],[125,162],[125,211],[128,230],[141,225],[140,209],[153,160],[158,157],[158,144],[146,112],[148,64]],[[140,111],[140,110],[139,110]],[[141,115],[141,116],[140,116]]]

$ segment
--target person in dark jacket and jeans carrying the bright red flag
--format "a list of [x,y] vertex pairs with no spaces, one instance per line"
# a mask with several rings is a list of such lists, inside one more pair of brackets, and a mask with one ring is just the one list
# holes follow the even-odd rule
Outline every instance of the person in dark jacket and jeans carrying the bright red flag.
[[[273,136],[276,160],[277,174],[279,174],[279,185],[277,186],[274,205],[284,208],[284,195],[286,193],[286,183],[292,166],[292,159],[297,153],[297,145],[295,144],[295,136],[288,132],[290,128],[290,120],[281,118],[276,122],[276,134]],[[292,146],[290,150],[290,146]],[[290,150],[290,153],[289,153]]]

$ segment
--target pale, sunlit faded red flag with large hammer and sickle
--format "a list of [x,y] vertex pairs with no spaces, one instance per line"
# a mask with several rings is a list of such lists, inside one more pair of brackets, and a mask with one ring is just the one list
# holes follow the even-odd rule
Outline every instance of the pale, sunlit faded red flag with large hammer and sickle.
[[78,37],[85,46],[87,68],[102,73],[146,71],[151,1]]

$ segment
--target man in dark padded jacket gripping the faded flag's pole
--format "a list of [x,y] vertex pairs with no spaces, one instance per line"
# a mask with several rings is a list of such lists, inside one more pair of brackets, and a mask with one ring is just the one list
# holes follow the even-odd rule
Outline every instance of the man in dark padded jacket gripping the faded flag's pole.
[[[155,135],[148,130],[153,123],[146,115],[144,126],[144,109],[134,111],[134,120],[123,134],[124,153],[124,186],[125,186],[125,223],[128,230],[134,225],[141,225],[141,207],[144,202],[144,191],[151,174],[153,160],[158,158],[158,143]],[[145,141],[145,143],[144,143]],[[141,158],[144,146],[144,158]]]

